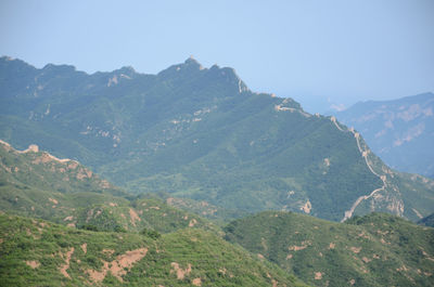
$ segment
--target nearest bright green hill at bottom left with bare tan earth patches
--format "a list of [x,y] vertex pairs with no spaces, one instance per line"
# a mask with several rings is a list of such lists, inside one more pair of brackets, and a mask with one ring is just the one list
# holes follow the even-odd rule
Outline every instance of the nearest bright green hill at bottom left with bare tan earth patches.
[[201,230],[158,239],[0,214],[2,286],[302,286]]

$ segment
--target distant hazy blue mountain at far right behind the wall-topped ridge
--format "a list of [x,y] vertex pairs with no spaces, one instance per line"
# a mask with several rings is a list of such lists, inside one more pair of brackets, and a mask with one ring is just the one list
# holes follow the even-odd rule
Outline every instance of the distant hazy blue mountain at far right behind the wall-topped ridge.
[[434,178],[434,94],[360,102],[333,113],[394,169]]

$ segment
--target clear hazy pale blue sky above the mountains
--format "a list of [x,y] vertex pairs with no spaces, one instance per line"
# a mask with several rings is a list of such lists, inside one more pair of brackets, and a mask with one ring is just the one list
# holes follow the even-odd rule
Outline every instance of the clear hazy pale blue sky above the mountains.
[[434,0],[0,2],[0,54],[155,74],[193,55],[309,112],[434,91]]

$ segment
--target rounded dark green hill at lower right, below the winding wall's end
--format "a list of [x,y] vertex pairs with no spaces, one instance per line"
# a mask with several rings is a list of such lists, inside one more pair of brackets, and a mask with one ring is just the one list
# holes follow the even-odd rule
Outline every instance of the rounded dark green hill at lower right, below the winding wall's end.
[[226,238],[316,286],[433,286],[434,229],[372,213],[333,223],[261,212],[225,227]]

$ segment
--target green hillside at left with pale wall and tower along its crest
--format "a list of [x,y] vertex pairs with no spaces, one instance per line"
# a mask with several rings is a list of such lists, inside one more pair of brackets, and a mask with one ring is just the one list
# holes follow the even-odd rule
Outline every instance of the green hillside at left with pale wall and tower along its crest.
[[0,210],[101,231],[218,229],[157,198],[137,198],[79,162],[0,142]]

